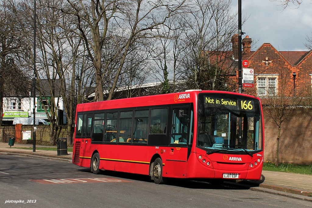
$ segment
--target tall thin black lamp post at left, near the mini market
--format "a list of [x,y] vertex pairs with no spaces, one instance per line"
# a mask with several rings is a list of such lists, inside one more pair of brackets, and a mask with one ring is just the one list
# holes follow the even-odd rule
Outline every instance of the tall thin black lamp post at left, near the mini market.
[[36,152],[36,0],[34,0],[34,130],[32,132],[32,152]]

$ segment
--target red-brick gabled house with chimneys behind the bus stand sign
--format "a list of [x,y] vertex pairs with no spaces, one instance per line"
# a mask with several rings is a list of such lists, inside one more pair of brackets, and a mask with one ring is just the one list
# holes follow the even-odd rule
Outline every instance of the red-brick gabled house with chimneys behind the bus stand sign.
[[[270,43],[251,51],[251,43],[248,36],[242,39],[242,60],[248,60],[248,68],[254,70],[254,87],[244,87],[244,93],[265,99],[269,95],[280,95],[282,91],[292,96],[295,90],[295,93],[307,92],[310,96],[312,51],[278,51]],[[232,37],[232,44],[236,56],[237,35]]]

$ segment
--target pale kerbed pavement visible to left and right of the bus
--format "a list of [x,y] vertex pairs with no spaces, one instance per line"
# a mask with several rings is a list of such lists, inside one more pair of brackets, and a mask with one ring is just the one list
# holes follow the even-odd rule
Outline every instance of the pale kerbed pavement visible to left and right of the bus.
[[[31,147],[31,149],[16,149],[18,147]],[[38,147],[47,146],[36,145],[36,148]],[[14,145],[10,147],[8,143],[0,142],[0,154],[26,157],[48,157],[70,162],[72,160],[72,152],[67,152],[66,155],[57,155],[57,151],[51,150],[36,149],[36,151],[33,152],[32,144],[14,143]],[[235,184],[248,187],[253,191],[261,191],[312,202],[312,175],[262,171],[262,176],[259,181],[237,180]]]

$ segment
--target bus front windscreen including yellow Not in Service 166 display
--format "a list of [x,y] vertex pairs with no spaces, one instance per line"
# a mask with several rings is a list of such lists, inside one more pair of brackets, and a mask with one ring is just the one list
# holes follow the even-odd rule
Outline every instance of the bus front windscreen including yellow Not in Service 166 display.
[[262,149],[257,99],[234,94],[198,95],[197,146],[214,151],[255,153]]

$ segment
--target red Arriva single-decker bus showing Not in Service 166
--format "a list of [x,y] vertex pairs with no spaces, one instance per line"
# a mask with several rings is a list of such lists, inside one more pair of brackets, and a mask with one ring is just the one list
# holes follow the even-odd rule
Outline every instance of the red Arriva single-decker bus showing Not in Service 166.
[[[224,91],[187,90],[78,104],[72,162],[167,178],[260,180],[261,101]],[[217,181],[217,180],[216,180]]]

